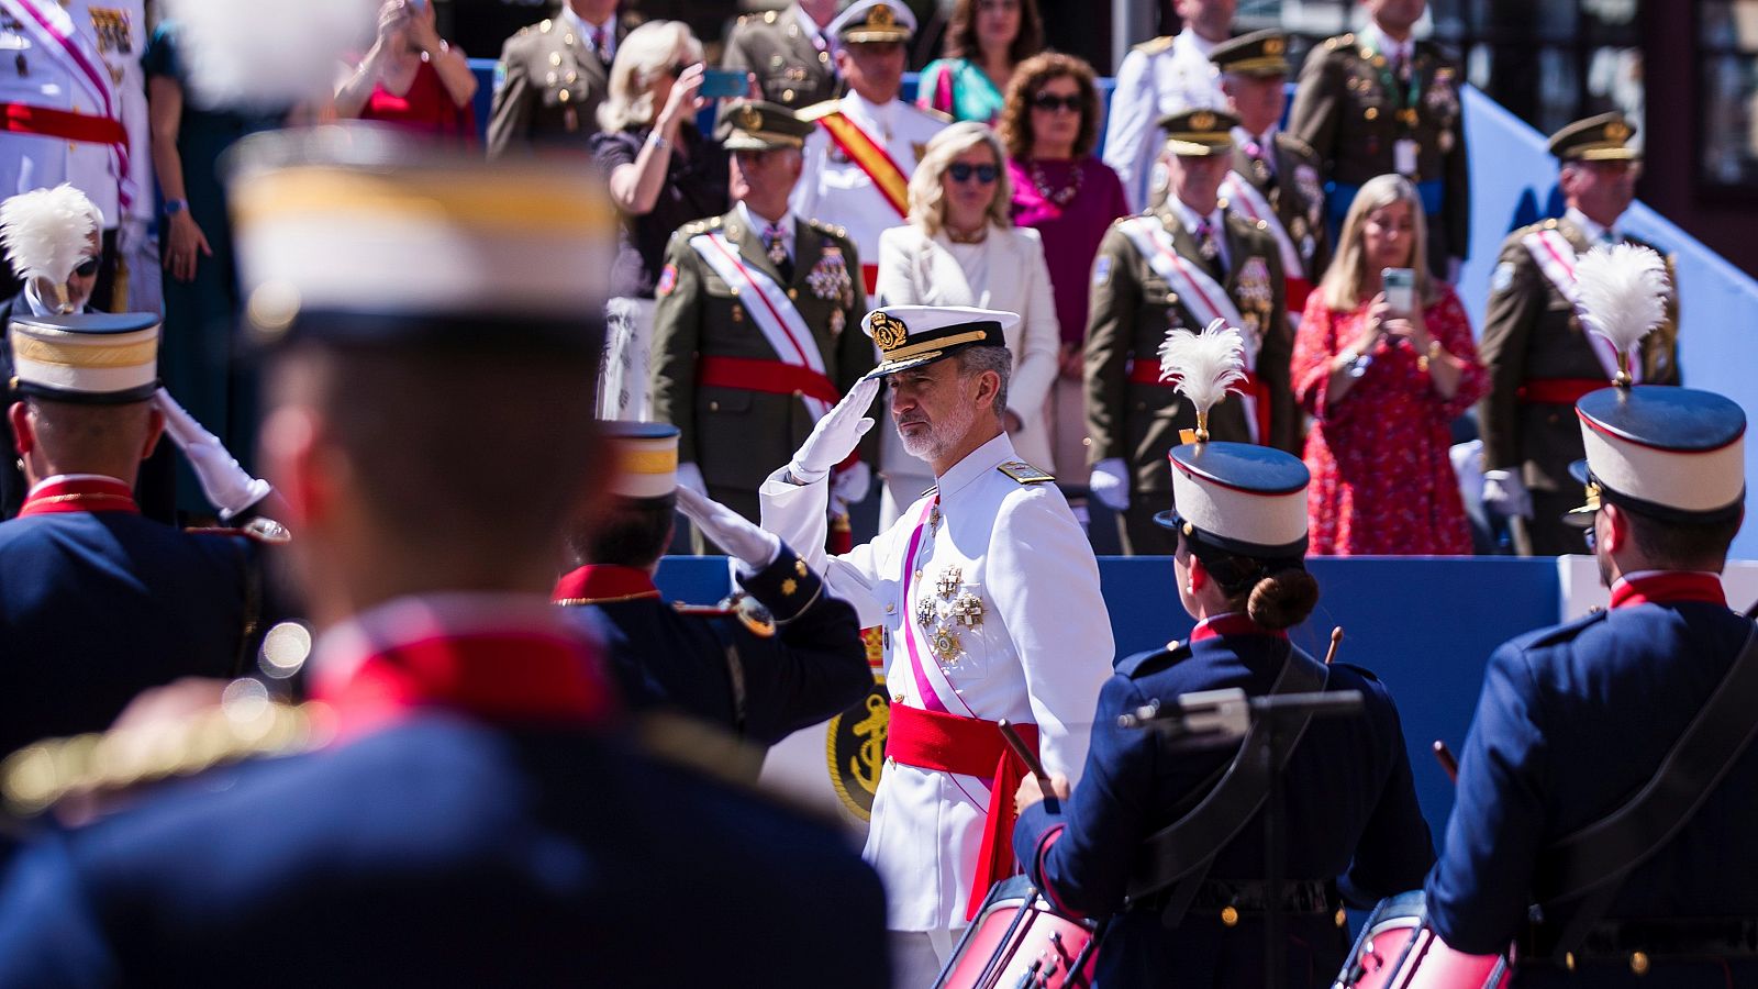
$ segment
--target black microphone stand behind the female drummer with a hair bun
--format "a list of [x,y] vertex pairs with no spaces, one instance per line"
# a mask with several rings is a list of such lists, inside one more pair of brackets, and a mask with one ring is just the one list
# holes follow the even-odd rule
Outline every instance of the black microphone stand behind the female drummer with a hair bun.
[[1245,737],[1253,723],[1264,725],[1264,744],[1255,753],[1269,778],[1264,806],[1264,985],[1287,989],[1287,936],[1282,915],[1282,883],[1287,871],[1287,808],[1282,799],[1280,766],[1287,758],[1289,725],[1308,716],[1355,716],[1364,709],[1359,690],[1275,693],[1246,697],[1239,688],[1183,693],[1171,704],[1159,700],[1118,716],[1123,729],[1155,729],[1167,734],[1173,751],[1220,748]]

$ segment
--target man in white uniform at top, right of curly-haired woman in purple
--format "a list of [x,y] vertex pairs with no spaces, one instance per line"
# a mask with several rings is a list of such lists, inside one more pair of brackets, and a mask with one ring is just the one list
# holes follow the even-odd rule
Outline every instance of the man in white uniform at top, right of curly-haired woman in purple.
[[1238,0],[1176,0],[1185,30],[1129,49],[1116,70],[1116,93],[1104,132],[1104,164],[1123,179],[1136,213],[1153,206],[1153,162],[1166,148],[1160,118],[1185,109],[1227,109],[1220,72],[1210,62],[1215,46],[1232,35]]

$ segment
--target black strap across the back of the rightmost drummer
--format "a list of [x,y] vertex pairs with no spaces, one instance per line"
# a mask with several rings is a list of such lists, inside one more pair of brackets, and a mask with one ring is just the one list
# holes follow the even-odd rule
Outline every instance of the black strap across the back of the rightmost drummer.
[[1758,734],[1758,626],[1721,685],[1698,711],[1654,776],[1624,806],[1563,838],[1538,859],[1538,903],[1580,897],[1554,945],[1554,957],[1580,947],[1637,866],[1660,852],[1696,813]]

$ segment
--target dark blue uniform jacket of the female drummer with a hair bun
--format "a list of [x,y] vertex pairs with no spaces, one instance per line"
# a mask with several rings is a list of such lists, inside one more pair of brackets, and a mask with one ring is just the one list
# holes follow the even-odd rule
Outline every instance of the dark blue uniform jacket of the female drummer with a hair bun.
[[[1238,686],[1268,693],[1289,655],[1287,639],[1264,634],[1201,639],[1183,649],[1141,653],[1118,663],[1099,693],[1092,750],[1062,813],[1032,806],[1014,829],[1014,852],[1053,899],[1104,917],[1123,906],[1141,868],[1141,843],[1178,818],[1178,804],[1211,783],[1236,746],[1173,753],[1153,730],[1120,729],[1116,716],[1148,700]],[[1296,649],[1297,662],[1317,663]],[[1415,889],[1435,861],[1417,808],[1398,709],[1373,674],[1336,663],[1326,690],[1359,690],[1361,718],[1317,718],[1282,776],[1289,880],[1340,876],[1357,905]],[[1253,817],[1215,859],[1211,880],[1264,876],[1264,822]],[[1347,954],[1347,931],[1331,917],[1290,917],[1289,985],[1329,985]],[[1262,985],[1264,931],[1246,915],[1222,924],[1192,910],[1166,929],[1157,908],[1113,919],[1099,956],[1099,985]]]

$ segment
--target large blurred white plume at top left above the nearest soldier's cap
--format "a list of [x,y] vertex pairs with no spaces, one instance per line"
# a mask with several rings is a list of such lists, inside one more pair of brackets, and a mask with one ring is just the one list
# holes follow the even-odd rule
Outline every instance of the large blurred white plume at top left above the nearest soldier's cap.
[[199,106],[280,111],[323,100],[373,44],[378,0],[165,0]]

